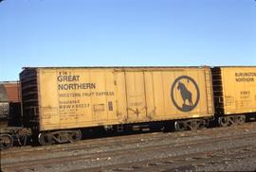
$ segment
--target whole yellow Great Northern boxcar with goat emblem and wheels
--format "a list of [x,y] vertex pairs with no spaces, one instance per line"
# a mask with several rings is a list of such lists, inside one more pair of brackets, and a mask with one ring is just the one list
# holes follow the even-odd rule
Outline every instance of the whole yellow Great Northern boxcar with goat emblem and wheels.
[[20,81],[24,125],[43,145],[90,127],[205,126],[214,114],[210,67],[24,68]]

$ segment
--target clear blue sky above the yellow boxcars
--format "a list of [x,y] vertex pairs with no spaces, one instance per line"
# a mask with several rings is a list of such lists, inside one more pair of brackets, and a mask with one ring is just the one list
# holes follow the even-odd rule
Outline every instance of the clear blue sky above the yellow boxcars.
[[254,0],[4,0],[0,80],[25,66],[256,65]]

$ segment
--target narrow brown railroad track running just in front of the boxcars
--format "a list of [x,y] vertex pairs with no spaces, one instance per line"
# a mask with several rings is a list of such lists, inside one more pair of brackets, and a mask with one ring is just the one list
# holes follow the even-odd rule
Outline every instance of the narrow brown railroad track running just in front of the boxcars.
[[[253,123],[247,123],[247,125],[237,126],[239,129],[247,129],[250,126],[253,127]],[[182,131],[182,132],[153,132],[153,133],[142,133],[142,134],[133,134],[133,135],[125,135],[125,136],[113,136],[113,137],[106,137],[106,138],[100,138],[100,139],[91,139],[91,140],[82,140],[77,143],[73,144],[64,144],[64,145],[54,145],[54,146],[21,146],[21,147],[12,147],[8,150],[2,150],[2,155],[4,156],[12,156],[15,154],[27,154],[29,151],[36,151],[36,152],[45,152],[45,151],[51,151],[51,152],[58,152],[58,151],[66,151],[66,150],[73,150],[73,149],[79,149],[79,148],[97,148],[104,146],[111,146],[113,144],[117,144],[117,138],[118,142],[121,144],[131,144],[131,143],[138,143],[138,142],[147,142],[147,141],[159,141],[159,139],[168,138],[169,136],[176,138],[181,137],[192,137],[198,135],[200,133],[200,137],[209,136],[210,133],[214,132],[214,129],[218,129],[220,133],[218,135],[223,134],[224,136],[227,135],[226,130],[236,128],[230,127],[230,128],[213,128],[213,129],[199,129],[196,131]],[[238,132],[244,132],[244,130],[239,130]],[[230,134],[230,133],[229,133]],[[21,151],[22,150],[22,151]]]

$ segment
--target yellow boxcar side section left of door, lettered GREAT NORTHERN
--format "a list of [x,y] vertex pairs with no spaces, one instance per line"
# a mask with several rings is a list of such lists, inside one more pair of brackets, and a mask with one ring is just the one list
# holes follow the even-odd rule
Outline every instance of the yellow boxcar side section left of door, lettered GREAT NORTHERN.
[[89,69],[39,70],[40,129],[117,123],[114,75]]

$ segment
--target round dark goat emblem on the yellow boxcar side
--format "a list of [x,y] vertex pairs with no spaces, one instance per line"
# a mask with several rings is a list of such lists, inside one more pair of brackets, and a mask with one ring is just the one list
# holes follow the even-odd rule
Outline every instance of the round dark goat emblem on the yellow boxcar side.
[[174,80],[171,88],[174,106],[181,112],[190,112],[198,104],[200,93],[192,77],[181,76]]

